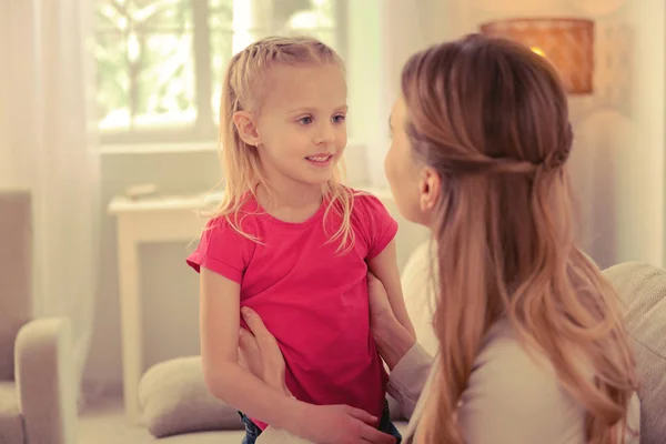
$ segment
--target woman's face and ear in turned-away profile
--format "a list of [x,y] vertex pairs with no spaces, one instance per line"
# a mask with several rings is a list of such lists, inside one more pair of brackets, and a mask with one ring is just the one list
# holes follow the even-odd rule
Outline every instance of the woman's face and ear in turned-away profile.
[[440,175],[416,160],[406,133],[406,103],[401,95],[389,120],[392,142],[384,169],[401,214],[408,221],[430,226],[440,190]]

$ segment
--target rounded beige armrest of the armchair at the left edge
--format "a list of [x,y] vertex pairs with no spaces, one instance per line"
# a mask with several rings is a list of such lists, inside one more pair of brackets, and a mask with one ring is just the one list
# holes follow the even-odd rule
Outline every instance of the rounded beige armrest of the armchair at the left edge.
[[30,443],[77,442],[72,332],[67,319],[21,327],[14,347],[16,382]]

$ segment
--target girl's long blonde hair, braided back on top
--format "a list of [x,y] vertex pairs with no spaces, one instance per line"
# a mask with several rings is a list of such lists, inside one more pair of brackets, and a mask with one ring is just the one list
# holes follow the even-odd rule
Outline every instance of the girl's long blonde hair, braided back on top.
[[[234,123],[233,114],[248,111],[259,114],[263,94],[269,90],[266,74],[275,65],[300,67],[307,64],[337,65],[344,72],[344,62],[337,53],[321,41],[307,37],[269,37],[250,44],[236,53],[226,68],[220,103],[219,154],[224,174],[222,201],[209,216],[223,216],[241,235],[260,241],[242,230],[242,206],[256,199],[256,186],[271,189],[262,174],[256,147],[245,143]],[[353,194],[342,184],[344,161],[340,159],[333,176],[323,185],[326,202],[325,218],[331,211],[339,214],[342,223],[330,242],[340,240],[339,251],[349,251],[354,242],[351,229]]]

